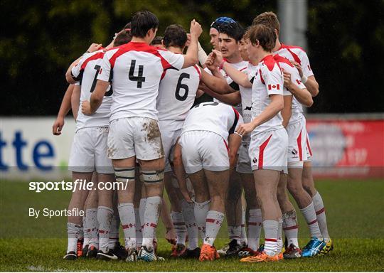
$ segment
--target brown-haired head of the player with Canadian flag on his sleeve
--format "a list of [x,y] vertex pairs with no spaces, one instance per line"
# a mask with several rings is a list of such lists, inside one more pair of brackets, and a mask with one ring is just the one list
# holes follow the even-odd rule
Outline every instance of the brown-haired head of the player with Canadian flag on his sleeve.
[[258,24],[253,25],[247,31],[249,43],[247,43],[247,52],[250,59],[258,58],[260,53],[272,53],[276,44],[276,33],[274,29],[268,26]]

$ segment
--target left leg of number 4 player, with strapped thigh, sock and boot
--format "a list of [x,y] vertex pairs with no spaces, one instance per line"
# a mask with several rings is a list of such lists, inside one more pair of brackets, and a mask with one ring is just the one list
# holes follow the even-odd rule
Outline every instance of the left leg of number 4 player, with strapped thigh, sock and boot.
[[134,215],[134,193],[135,193],[135,163],[134,156],[129,159],[113,159],[116,181],[123,187],[117,190],[117,208],[124,231],[125,249],[129,260],[135,260],[136,251],[136,219]]

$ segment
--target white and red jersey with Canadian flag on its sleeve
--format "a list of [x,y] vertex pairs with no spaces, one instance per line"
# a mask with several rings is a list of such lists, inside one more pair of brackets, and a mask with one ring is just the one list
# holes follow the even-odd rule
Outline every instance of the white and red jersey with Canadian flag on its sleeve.
[[[282,71],[273,56],[267,55],[257,65],[256,75],[248,77],[252,82],[252,119],[255,119],[270,105],[270,95],[283,95]],[[252,135],[279,128],[283,128],[280,112],[256,127]]]

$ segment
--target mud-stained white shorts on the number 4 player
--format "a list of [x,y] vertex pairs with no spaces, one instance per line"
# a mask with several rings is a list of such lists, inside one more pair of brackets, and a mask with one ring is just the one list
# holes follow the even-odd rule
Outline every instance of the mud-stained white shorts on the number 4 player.
[[110,122],[108,157],[110,159],[154,160],[164,157],[159,125],[148,117],[127,117]]

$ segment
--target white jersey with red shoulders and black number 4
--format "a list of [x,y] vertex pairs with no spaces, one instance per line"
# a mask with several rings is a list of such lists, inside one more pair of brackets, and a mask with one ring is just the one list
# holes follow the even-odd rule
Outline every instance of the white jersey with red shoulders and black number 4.
[[124,117],[157,119],[156,97],[164,70],[183,67],[184,56],[146,43],[129,42],[108,50],[98,80],[113,87],[110,120]]

